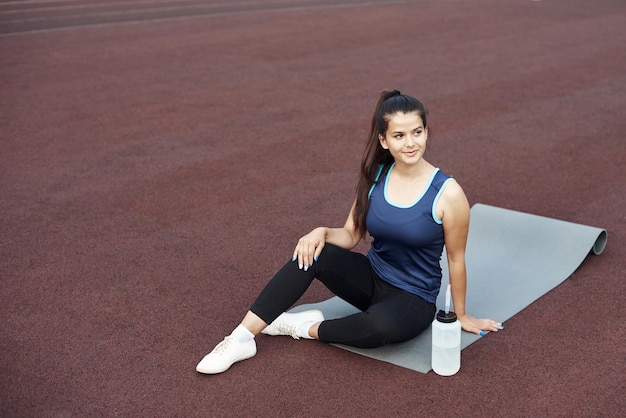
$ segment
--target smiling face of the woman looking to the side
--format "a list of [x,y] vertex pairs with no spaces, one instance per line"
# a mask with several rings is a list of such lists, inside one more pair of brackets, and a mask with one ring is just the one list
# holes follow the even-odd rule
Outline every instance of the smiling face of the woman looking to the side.
[[417,113],[394,113],[385,135],[378,135],[380,145],[389,150],[396,164],[415,164],[424,155],[428,129]]

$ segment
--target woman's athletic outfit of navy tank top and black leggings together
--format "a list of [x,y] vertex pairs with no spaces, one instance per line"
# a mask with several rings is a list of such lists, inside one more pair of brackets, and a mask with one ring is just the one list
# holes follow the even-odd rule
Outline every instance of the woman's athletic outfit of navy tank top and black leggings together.
[[[372,186],[366,227],[374,238],[367,255],[326,244],[307,271],[288,262],[250,310],[266,323],[300,299],[314,278],[361,312],[325,320],[320,341],[373,348],[416,337],[435,315],[441,285],[443,226],[435,213],[452,179],[436,169],[418,199],[406,206],[387,196],[389,173]],[[379,176],[381,170],[379,171]]]

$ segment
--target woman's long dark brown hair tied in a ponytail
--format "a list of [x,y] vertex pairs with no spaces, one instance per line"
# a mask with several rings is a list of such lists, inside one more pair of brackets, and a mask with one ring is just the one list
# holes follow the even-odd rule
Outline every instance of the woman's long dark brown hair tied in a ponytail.
[[356,186],[356,205],[354,209],[354,227],[361,236],[365,234],[365,218],[369,209],[369,192],[377,182],[376,175],[382,168],[379,178],[383,178],[393,163],[388,150],[380,145],[378,135],[385,135],[392,115],[396,113],[417,113],[427,127],[426,108],[414,97],[404,95],[398,90],[383,91],[376,103],[369,139],[361,160],[361,172]]

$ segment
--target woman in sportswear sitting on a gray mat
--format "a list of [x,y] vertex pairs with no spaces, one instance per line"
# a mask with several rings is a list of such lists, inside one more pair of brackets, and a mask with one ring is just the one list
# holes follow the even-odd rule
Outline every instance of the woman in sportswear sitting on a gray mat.
[[[361,348],[416,337],[435,315],[444,244],[463,329],[503,328],[465,312],[469,204],[456,181],[423,158],[427,140],[423,104],[397,90],[383,92],[345,225],[316,228],[300,238],[291,262],[276,273],[232,334],[200,361],[198,372],[221,373],[254,356],[254,337],[261,332]],[[368,254],[350,251],[366,232],[373,237]],[[327,321],[318,310],[284,313],[314,278],[361,312]]]

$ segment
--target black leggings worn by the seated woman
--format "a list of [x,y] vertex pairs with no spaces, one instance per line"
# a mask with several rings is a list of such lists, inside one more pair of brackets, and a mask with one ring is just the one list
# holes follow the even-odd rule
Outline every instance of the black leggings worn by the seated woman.
[[307,271],[290,261],[276,273],[250,310],[266,323],[300,299],[314,278],[362,312],[323,321],[320,341],[360,348],[410,340],[433,321],[435,305],[379,279],[363,254],[326,244]]

